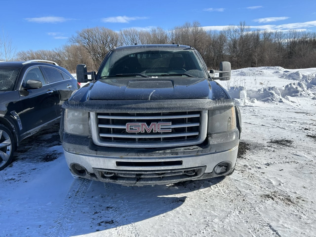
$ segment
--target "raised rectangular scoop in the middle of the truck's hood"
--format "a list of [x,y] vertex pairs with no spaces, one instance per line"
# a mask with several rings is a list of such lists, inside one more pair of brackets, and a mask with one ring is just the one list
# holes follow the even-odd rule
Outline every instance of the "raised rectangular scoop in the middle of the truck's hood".
[[127,82],[126,88],[173,88],[173,82],[170,80],[130,80]]

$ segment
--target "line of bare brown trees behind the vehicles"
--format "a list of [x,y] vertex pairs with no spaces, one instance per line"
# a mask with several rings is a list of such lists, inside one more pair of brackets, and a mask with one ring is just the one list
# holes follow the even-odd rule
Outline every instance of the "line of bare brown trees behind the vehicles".
[[259,66],[295,69],[316,65],[315,32],[252,30],[245,22],[221,31],[208,31],[198,21],[169,30],[161,27],[150,30],[128,28],[119,32],[106,27],[82,29],[64,46],[21,51],[16,54],[16,60],[51,60],[74,73],[77,64],[87,64],[88,70],[97,70],[114,47],[178,42],[197,49],[210,69],[218,69],[221,61],[231,62],[232,69]]

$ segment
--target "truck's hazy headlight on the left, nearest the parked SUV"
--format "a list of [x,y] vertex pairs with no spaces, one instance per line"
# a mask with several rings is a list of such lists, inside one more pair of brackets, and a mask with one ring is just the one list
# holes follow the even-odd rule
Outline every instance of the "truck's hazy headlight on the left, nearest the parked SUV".
[[65,109],[64,131],[70,134],[88,136],[89,135],[88,112]]

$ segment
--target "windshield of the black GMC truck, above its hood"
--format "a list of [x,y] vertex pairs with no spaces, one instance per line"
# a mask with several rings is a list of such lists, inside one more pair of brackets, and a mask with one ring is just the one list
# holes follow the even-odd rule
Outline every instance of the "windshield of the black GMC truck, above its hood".
[[[133,75],[133,74],[141,75]],[[126,74],[126,75],[124,75]],[[208,77],[193,50],[114,50],[101,68],[101,78],[123,76]]]

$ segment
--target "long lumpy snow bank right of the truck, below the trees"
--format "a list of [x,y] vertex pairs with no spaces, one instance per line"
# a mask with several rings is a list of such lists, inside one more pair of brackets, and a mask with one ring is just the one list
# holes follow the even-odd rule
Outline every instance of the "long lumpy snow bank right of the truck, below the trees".
[[[239,105],[251,105],[256,103],[257,101],[262,102],[277,102],[277,103],[296,103],[296,100],[293,100],[292,97],[295,96],[301,96],[301,97],[307,97],[310,99],[315,98],[316,95],[316,74],[307,72],[310,74],[304,74],[305,71],[295,71],[290,72],[287,70],[284,70],[281,67],[260,67],[260,68],[244,68],[244,69],[238,69],[234,70],[235,75],[260,75],[265,74],[264,76],[257,76],[257,81],[261,80],[262,83],[257,83],[250,87],[251,89],[246,89],[244,86],[232,86],[228,88],[228,93],[231,95],[231,97],[236,100],[236,103]],[[283,74],[283,76],[279,75],[271,75],[271,74]],[[267,75],[267,74],[270,74]],[[270,77],[270,78],[269,78]],[[294,80],[294,82],[291,82],[289,84],[286,84],[284,87],[282,87],[280,83],[277,84],[277,81],[274,81],[272,78],[282,78],[286,80]],[[242,78],[242,77],[241,77]],[[271,80],[272,79],[272,80]],[[245,80],[245,79],[243,79]],[[267,80],[268,82],[264,83],[264,80]],[[271,81],[270,81],[271,80]],[[280,79],[279,79],[280,80]],[[285,82],[286,82],[285,80]],[[270,81],[270,83],[269,83]],[[252,82],[253,84],[253,80]],[[260,81],[259,81],[260,82]],[[270,86],[272,82],[272,86]],[[249,81],[247,82],[247,85]],[[282,82],[281,82],[282,83]],[[275,85],[278,86],[275,86]],[[251,85],[251,84],[250,84]],[[257,85],[263,85],[265,87],[258,88]],[[257,86],[255,88],[254,86]],[[284,88],[284,89],[283,89]]]

